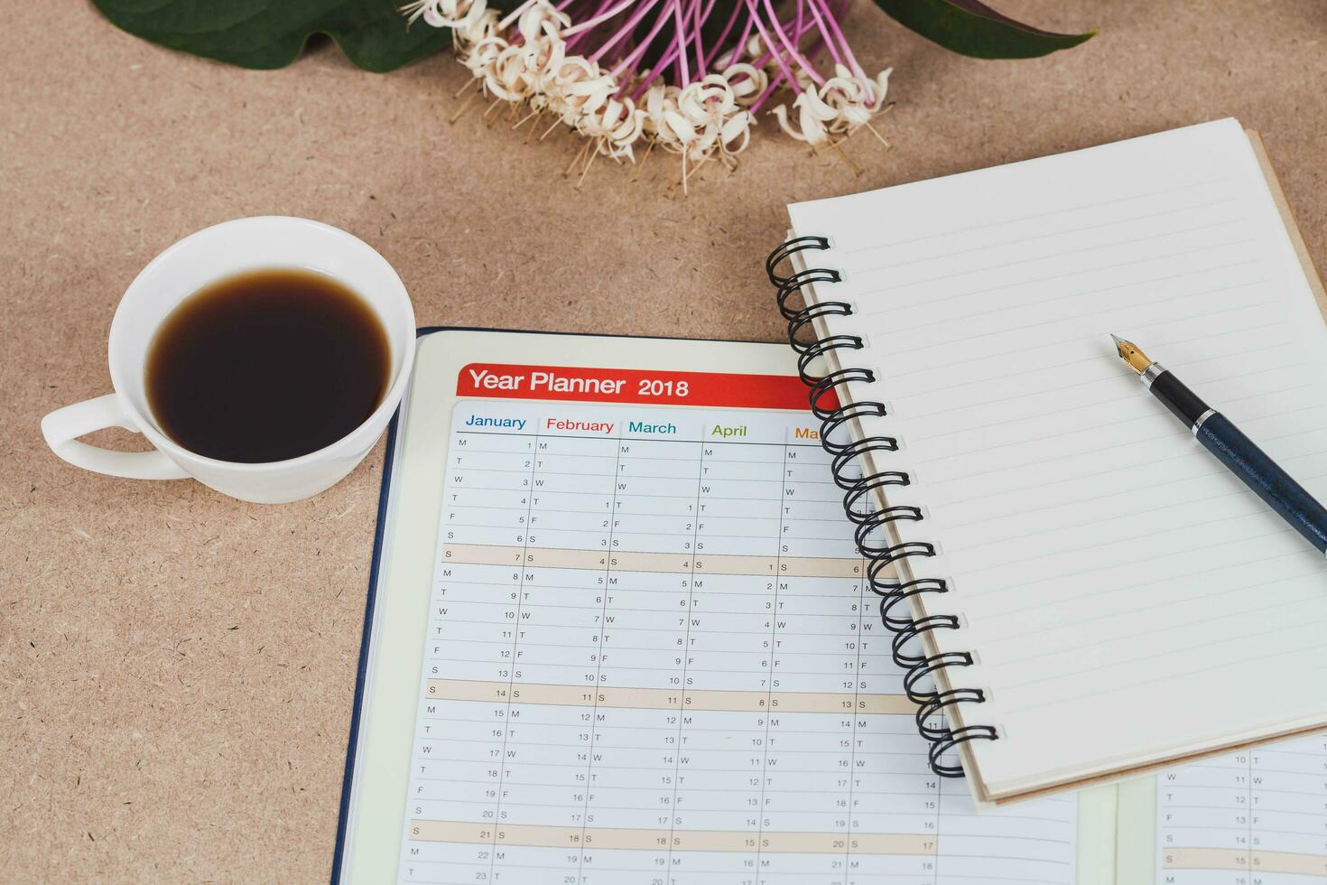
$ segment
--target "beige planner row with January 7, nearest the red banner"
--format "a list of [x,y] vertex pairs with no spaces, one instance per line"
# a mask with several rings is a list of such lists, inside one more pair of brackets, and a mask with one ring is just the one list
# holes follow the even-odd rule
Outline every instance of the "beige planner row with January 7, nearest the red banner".
[[860,559],[811,556],[730,556],[723,553],[640,553],[632,551],[583,551],[500,544],[447,544],[443,563],[462,565],[511,565],[519,568],[579,568],[617,572],[686,572],[695,575],[778,575],[780,577],[860,577]]

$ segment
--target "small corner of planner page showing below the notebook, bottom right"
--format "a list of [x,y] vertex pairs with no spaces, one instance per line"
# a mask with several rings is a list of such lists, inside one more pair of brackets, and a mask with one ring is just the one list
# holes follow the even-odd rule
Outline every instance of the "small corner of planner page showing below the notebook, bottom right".
[[1327,738],[1250,747],[1161,774],[1156,881],[1327,881]]

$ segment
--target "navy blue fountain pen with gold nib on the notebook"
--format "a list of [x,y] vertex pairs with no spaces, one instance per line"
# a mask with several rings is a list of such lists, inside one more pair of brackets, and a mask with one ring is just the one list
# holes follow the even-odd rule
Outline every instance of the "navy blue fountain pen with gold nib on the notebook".
[[1132,341],[1115,334],[1111,337],[1115,338],[1115,349],[1119,350],[1120,358],[1139,374],[1143,386],[1182,421],[1194,438],[1217,456],[1217,460],[1281,513],[1291,528],[1303,535],[1318,552],[1327,553],[1327,510],[1251,439],[1239,433],[1229,418],[1202,402],[1174,377],[1173,372],[1164,369],[1160,362],[1153,362]]

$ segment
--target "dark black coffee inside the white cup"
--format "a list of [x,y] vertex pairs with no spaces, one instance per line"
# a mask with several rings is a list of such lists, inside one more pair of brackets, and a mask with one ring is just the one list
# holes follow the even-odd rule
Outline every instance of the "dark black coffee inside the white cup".
[[391,375],[387,336],[360,296],[296,269],[239,273],[182,301],[147,353],[147,401],[166,434],[220,460],[317,451],[373,414]]

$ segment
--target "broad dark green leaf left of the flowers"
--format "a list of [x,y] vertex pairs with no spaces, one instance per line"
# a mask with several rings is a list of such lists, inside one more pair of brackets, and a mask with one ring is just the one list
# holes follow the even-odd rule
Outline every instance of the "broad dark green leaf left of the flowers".
[[393,70],[451,45],[451,32],[406,27],[398,0],[93,0],[129,33],[242,68],[284,68],[314,33],[373,72]]

